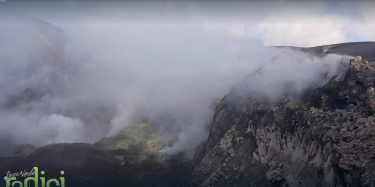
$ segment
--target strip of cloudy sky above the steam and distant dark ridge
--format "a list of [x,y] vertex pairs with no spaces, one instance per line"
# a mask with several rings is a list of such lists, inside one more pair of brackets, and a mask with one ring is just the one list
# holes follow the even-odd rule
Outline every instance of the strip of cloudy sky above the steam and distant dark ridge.
[[375,2],[365,0],[8,0],[5,3],[59,26],[123,24],[124,21],[194,22],[209,31],[261,39],[265,45],[303,47],[375,40],[372,21]]

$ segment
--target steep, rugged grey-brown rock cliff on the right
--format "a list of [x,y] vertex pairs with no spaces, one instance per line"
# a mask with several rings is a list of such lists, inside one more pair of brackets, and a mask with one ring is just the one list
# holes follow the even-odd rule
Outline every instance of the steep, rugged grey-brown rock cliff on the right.
[[374,66],[354,57],[342,80],[276,106],[232,90],[190,186],[374,187]]

